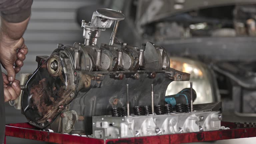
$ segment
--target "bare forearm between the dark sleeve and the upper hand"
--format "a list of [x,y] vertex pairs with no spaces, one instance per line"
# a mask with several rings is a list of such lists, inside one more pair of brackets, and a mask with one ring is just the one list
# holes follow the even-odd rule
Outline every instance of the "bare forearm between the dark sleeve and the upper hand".
[[23,22],[11,23],[1,17],[0,41],[7,40],[11,42],[19,40],[27,28],[29,19],[30,17]]

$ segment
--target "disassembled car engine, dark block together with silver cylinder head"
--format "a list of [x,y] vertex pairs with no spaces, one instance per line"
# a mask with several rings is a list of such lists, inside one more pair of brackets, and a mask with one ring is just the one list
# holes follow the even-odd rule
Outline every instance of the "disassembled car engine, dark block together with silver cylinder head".
[[[58,44],[49,57],[37,56],[38,68],[10,104],[19,103],[38,128],[95,138],[220,129],[219,111],[193,110],[192,83],[165,97],[172,81],[189,81],[190,74],[170,68],[166,50],[152,42],[120,43],[116,33],[124,18],[121,11],[98,9],[91,22],[82,21],[84,44]],[[114,22],[110,43],[98,46],[101,32]]]

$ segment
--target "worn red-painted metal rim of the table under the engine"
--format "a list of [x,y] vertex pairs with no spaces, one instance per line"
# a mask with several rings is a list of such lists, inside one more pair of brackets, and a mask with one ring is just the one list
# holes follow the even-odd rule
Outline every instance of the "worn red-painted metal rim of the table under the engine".
[[230,127],[232,129],[137,138],[108,139],[104,142],[102,139],[27,129],[31,128],[31,126],[29,126],[27,123],[19,123],[7,125],[5,135],[38,141],[54,142],[59,144],[179,144],[256,137],[256,128],[236,128],[236,124],[231,122],[222,122],[222,126]]

